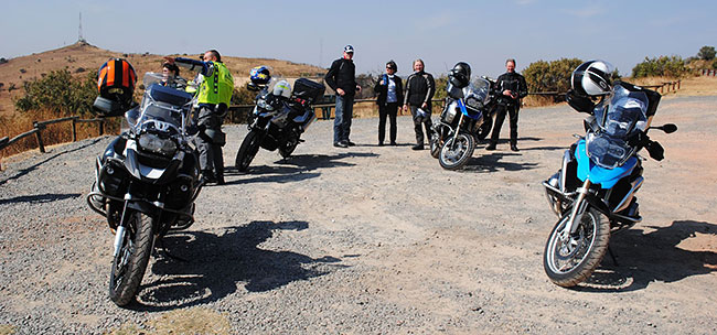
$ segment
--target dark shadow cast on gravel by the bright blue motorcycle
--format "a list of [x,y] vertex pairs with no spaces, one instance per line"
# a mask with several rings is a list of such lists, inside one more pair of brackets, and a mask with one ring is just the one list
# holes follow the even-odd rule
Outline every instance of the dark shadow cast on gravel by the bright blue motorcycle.
[[675,282],[691,275],[717,271],[717,252],[691,251],[678,245],[696,234],[717,235],[717,225],[706,221],[677,220],[670,227],[650,227],[644,234],[629,229],[610,241],[616,264],[609,255],[596,272],[577,291],[631,292],[648,288],[650,282]]

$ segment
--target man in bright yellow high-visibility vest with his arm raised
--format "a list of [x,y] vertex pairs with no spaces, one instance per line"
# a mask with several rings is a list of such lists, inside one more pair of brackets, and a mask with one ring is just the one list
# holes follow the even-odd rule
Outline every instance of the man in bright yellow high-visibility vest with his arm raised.
[[[200,69],[202,83],[199,90],[199,111],[195,121],[199,133],[195,138],[200,152],[200,166],[206,183],[224,184],[224,158],[222,147],[226,142],[222,122],[234,93],[234,77],[222,63],[216,50],[204,53],[202,61],[164,57],[170,64],[176,63],[191,71]],[[196,119],[199,118],[199,119]]]

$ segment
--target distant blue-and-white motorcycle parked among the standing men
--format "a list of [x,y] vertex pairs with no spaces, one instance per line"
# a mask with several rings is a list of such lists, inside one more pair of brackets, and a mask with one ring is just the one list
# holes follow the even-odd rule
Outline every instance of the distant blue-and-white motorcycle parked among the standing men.
[[492,86],[486,77],[465,87],[458,87],[449,79],[448,97],[430,137],[430,154],[443,169],[458,170],[465,165],[475,143],[490,133],[494,110]]

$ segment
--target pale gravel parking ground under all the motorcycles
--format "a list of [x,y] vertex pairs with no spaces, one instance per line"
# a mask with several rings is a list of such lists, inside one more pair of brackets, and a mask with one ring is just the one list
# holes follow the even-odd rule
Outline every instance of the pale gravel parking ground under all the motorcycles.
[[[168,236],[138,302],[107,298],[113,235],[85,204],[110,137],[3,161],[0,333],[105,333],[201,307],[237,334],[717,333],[717,97],[663,100],[644,163],[644,221],[614,236],[590,281],[552,284],[543,247],[556,221],[541,182],[582,131],[565,106],[521,112],[517,153],[481,144],[461,172],[377,147],[377,119],[357,119],[350,149],[317,121],[295,154],[260,151],[246,174],[205,187],[197,221]],[[507,126],[502,131],[507,136]],[[246,134],[225,127],[226,165]],[[713,293],[709,293],[713,292]]]

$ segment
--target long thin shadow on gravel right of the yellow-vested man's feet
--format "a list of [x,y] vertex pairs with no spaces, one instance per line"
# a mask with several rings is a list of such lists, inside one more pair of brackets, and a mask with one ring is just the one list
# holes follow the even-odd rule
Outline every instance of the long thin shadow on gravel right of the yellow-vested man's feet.
[[249,184],[249,183],[288,183],[299,182],[312,177],[318,177],[321,173],[310,171],[327,169],[354,166],[354,163],[341,162],[340,160],[354,156],[378,156],[375,153],[346,152],[334,155],[327,154],[298,154],[289,156],[286,160],[276,162],[278,165],[258,165],[249,166],[248,173],[240,173],[236,168],[226,168],[225,176],[250,176],[248,179],[227,180],[227,185]]

